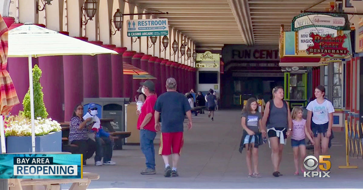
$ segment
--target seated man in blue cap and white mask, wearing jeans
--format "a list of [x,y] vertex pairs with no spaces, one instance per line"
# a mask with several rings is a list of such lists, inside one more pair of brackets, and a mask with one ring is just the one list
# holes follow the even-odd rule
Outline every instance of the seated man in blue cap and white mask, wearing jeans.
[[[91,131],[94,134],[96,142],[96,155],[94,156],[94,162],[96,166],[101,166],[101,159],[103,157],[103,165],[115,165],[116,163],[111,160],[113,151],[113,142],[108,132],[104,131],[101,127],[101,122],[97,117],[97,106],[94,103],[90,103],[88,112],[83,116],[83,119],[92,118],[90,123],[93,126]],[[92,138],[92,137],[89,137]]]

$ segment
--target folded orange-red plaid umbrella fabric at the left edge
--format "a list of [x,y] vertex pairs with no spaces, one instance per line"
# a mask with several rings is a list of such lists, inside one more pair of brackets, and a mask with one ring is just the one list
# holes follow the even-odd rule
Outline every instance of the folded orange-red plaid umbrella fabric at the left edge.
[[11,109],[19,104],[19,99],[11,77],[6,70],[8,64],[8,27],[0,15],[0,113],[7,115]]

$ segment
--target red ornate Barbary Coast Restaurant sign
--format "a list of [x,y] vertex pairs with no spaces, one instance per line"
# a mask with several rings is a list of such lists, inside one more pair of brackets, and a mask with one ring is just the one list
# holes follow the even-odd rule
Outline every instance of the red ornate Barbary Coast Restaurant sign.
[[321,54],[321,57],[334,57],[334,55],[347,56],[349,50],[343,47],[344,40],[347,35],[338,35],[332,37],[331,34],[321,36],[319,34],[311,33],[310,37],[313,39],[314,45],[306,49],[307,54]]

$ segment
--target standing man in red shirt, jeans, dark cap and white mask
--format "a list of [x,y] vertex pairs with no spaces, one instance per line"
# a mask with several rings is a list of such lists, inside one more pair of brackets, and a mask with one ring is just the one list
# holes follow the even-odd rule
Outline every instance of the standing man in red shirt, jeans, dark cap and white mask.
[[154,105],[156,102],[155,84],[147,80],[142,85],[142,93],[146,95],[146,100],[141,107],[141,111],[136,111],[139,115],[137,128],[140,130],[140,149],[146,158],[146,169],[141,172],[143,175],[155,174],[155,149],[154,139],[156,136]]

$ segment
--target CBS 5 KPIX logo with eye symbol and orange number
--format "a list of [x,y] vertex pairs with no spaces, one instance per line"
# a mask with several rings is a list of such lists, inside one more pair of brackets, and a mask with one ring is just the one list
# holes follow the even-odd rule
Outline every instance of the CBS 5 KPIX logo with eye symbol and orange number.
[[[329,160],[324,159],[330,159],[330,155],[321,155],[319,156],[319,161],[315,156],[306,156],[304,159],[304,167],[307,170],[310,170],[309,172],[304,172],[304,177],[330,177],[330,168],[331,168],[331,162]],[[324,167],[325,164],[325,167]],[[317,169],[319,166],[319,169],[321,172],[315,172],[312,170]]]

